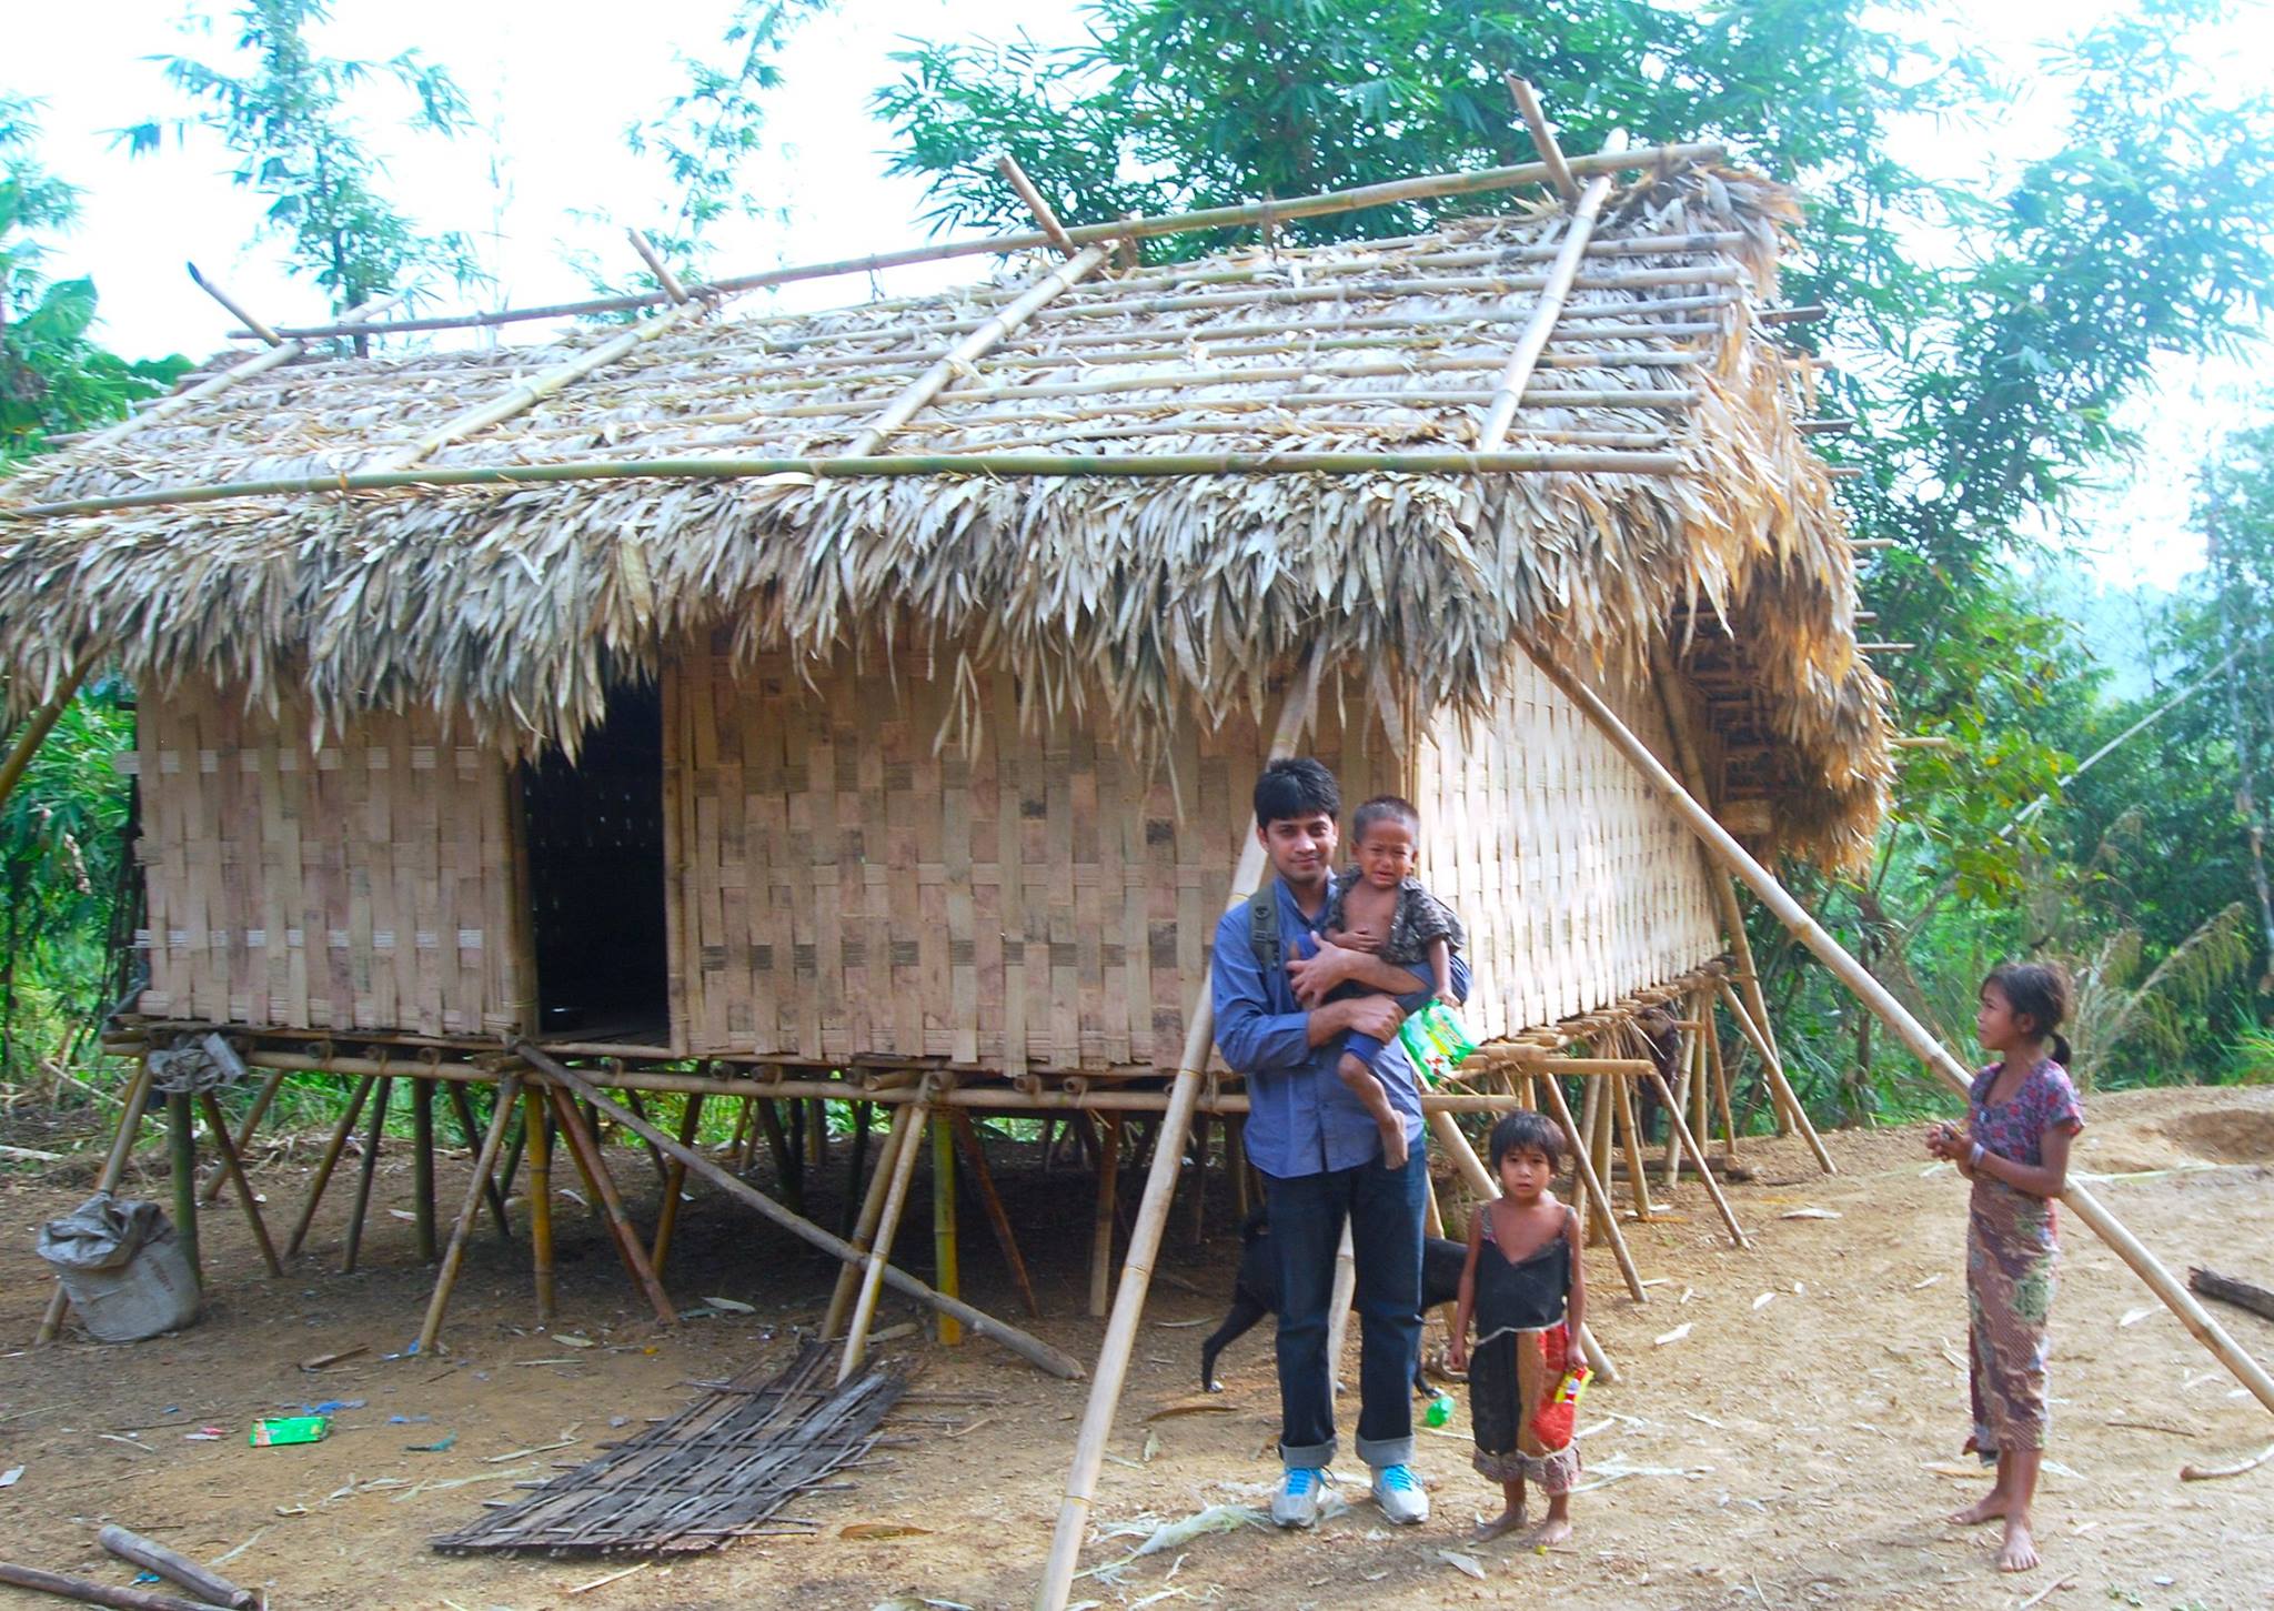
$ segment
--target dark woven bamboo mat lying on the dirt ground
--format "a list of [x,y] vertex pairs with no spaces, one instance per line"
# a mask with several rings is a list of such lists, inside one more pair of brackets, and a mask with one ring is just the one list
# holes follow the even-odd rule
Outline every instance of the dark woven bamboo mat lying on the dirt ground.
[[907,1390],[901,1365],[830,1383],[830,1349],[807,1342],[771,1381],[753,1365],[689,1408],[546,1481],[528,1500],[441,1534],[437,1550],[696,1552],[757,1534],[810,1534],[785,1504],[850,1484]]

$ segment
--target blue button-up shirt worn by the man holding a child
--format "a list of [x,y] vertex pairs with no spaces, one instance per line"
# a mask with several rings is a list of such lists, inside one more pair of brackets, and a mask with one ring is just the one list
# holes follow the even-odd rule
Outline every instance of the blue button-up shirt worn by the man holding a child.
[[[1317,924],[1294,903],[1283,878],[1271,881],[1280,903],[1280,944],[1303,956],[1319,949]],[[1319,908],[1326,917],[1326,908]],[[1217,1049],[1248,1083],[1248,1163],[1271,1176],[1355,1170],[1383,1151],[1373,1117],[1335,1072],[1342,1035],[1310,1044],[1310,1013],[1294,999],[1287,967],[1264,969],[1248,942],[1248,906],[1242,901],[1217,924],[1210,967],[1217,1003]],[[1405,1008],[1428,1001],[1426,981]],[[1453,994],[1469,997],[1469,967],[1453,958]],[[1405,1117],[1405,1140],[1421,1140],[1421,1092],[1405,1049],[1392,1040],[1373,1060],[1373,1074],[1389,1092],[1389,1106]]]

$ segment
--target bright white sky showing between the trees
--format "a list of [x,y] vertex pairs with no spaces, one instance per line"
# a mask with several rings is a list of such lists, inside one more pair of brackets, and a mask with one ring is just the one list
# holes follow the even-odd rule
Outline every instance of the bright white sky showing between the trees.
[[[1956,5],[1953,27],[1997,52],[2028,80],[2042,39],[2085,27],[2115,0],[1981,0]],[[207,0],[221,9],[225,0]],[[284,273],[280,246],[255,241],[262,200],[227,182],[227,152],[209,137],[168,141],[159,157],[130,162],[109,130],[182,111],[159,68],[166,50],[207,55],[218,41],[186,41],[175,23],[184,0],[96,0],[75,7],[14,7],[0,36],[0,89],[45,100],[39,155],[82,189],[77,232],[59,241],[52,273],[93,273],[102,294],[102,337],[130,355],[205,355],[223,344],[230,319],[182,271],[193,259],[209,278],[275,323],[325,312],[314,284]],[[628,16],[589,5],[500,0],[334,0],[337,18],[318,39],[330,55],[387,57],[421,48],[443,61],[496,141],[455,143],[409,137],[393,123],[398,102],[373,96],[371,146],[387,155],[389,193],[432,230],[466,230],[482,241],[500,284],[484,303],[553,303],[587,294],[562,262],[587,250],[630,268],[621,228],[589,214],[637,218],[641,198],[662,189],[648,162],[623,148],[623,127],[659,111],[680,86],[675,48],[719,55],[728,0],[671,0]],[[580,25],[578,16],[591,18]],[[666,25],[655,25],[657,20]],[[889,55],[905,41],[1026,30],[1039,41],[1080,36],[1071,0],[841,0],[796,36],[782,59],[785,82],[769,105],[769,150],[748,168],[753,193],[787,207],[787,228],[732,223],[716,230],[714,273],[785,262],[816,262],[889,250],[923,239],[921,193],[885,177],[889,132],[869,116],[869,96],[898,77]],[[2219,64],[2219,89],[2258,89],[2251,64],[2274,59],[2274,5],[2244,0]],[[2026,96],[1994,132],[2003,150],[2042,148],[2060,107]],[[1669,132],[1678,137],[1680,130]],[[1981,130],[1919,130],[1903,159],[1931,173],[1974,175],[1990,146]],[[491,166],[496,159],[496,177]],[[896,271],[887,291],[921,291],[976,273],[976,259]],[[866,296],[860,280],[791,287],[800,305]],[[441,305],[455,305],[441,287]],[[2092,569],[2113,585],[2172,585],[2199,562],[2181,530],[2188,478],[2217,430],[2217,410],[2247,391],[2249,364],[2169,366],[2160,396],[2138,405],[2149,453],[2115,476],[2088,510]]]

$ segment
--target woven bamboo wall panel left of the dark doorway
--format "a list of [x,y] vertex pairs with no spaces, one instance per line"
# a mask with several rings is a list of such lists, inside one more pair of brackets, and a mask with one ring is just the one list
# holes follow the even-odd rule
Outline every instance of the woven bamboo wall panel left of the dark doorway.
[[152,694],[136,751],[150,885],[141,1010],[284,1028],[521,1024],[507,769],[432,717],[309,749],[287,703]]

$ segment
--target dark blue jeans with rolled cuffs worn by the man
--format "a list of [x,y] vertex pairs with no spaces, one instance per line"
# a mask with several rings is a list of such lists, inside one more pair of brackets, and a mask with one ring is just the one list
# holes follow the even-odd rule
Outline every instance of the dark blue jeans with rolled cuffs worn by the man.
[[1271,1247],[1280,1277],[1280,1461],[1335,1461],[1333,1361],[1326,1356],[1335,1302],[1335,1254],[1351,1222],[1358,1261],[1358,1459],[1405,1465],[1414,1454],[1414,1363],[1421,1354],[1421,1206],[1426,1151],[1403,1170],[1380,1156],[1355,1170],[1264,1176]]

